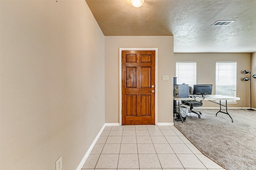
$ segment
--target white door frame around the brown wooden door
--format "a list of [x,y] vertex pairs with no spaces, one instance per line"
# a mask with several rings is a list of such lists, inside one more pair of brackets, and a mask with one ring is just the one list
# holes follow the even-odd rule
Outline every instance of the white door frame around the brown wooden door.
[[155,125],[157,125],[157,92],[158,92],[158,48],[119,48],[119,125],[122,125],[122,51],[155,51]]

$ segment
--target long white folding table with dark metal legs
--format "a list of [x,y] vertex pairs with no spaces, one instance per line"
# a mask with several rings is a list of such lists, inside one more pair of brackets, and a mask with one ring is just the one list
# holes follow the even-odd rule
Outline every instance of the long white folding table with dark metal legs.
[[[229,117],[231,118],[231,120],[232,120],[232,122],[233,122],[232,117],[231,117],[230,114],[228,113],[228,102],[227,102],[227,100],[240,100],[240,98],[216,94],[216,95],[206,95],[205,98],[203,98],[203,97],[196,97],[196,98],[174,98],[174,100],[176,100],[176,101],[177,101],[177,100],[178,100],[178,101],[179,101],[179,100],[182,100],[182,101],[184,101],[184,100],[187,100],[187,101],[194,101],[194,100],[196,100],[196,101],[202,101],[202,100],[207,100],[207,101],[213,102],[213,103],[218,104],[218,105],[220,106],[220,110],[216,113],[216,116],[217,116],[217,114],[218,114],[219,112],[225,113],[225,114],[229,115]],[[220,102],[217,103],[217,102],[214,102],[213,100],[220,100]],[[221,100],[226,100],[226,106],[221,104]],[[179,107],[180,107],[180,105],[182,105],[182,104],[179,104]],[[226,112],[221,111],[221,106],[226,107]],[[179,114],[180,114],[180,111],[179,111]],[[181,115],[180,115],[180,117],[181,117]],[[182,123],[183,123],[182,117],[181,117],[181,120],[182,120]]]

